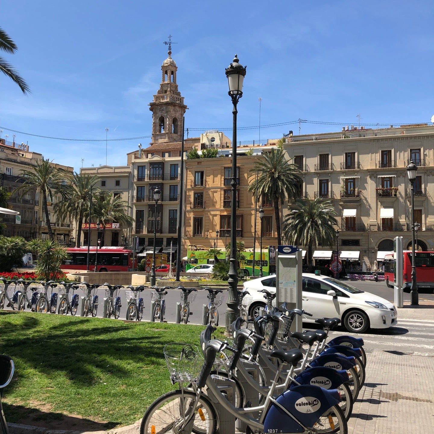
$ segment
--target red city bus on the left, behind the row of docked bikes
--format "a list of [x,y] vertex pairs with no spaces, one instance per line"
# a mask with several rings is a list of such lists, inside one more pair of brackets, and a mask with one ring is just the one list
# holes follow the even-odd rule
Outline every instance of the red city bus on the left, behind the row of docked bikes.
[[[63,261],[62,270],[86,270],[87,246],[69,247],[66,249],[69,259]],[[89,249],[89,270],[95,270],[96,247]],[[123,247],[99,247],[97,270],[107,271],[129,271],[132,269],[132,251]]]

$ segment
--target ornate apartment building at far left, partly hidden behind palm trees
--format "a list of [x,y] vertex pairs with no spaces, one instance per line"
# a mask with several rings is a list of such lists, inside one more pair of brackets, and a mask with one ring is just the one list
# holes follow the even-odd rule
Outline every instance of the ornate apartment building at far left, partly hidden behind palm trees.
[[[29,146],[24,143],[18,144],[15,141],[0,139],[0,185],[13,193],[16,187],[24,182],[21,176],[22,171],[31,170],[41,158],[41,154],[30,151]],[[69,166],[52,164],[65,171],[72,172],[73,170]],[[9,200],[11,208],[18,211],[20,215],[2,217],[3,223],[6,224],[5,235],[8,237],[16,235],[26,240],[48,237],[45,212],[39,192],[35,189],[23,197],[20,196],[21,194],[13,193]],[[72,224],[65,217],[55,215],[53,205],[58,199],[55,196],[51,202],[48,202],[49,217],[55,239],[67,245],[72,243]]]

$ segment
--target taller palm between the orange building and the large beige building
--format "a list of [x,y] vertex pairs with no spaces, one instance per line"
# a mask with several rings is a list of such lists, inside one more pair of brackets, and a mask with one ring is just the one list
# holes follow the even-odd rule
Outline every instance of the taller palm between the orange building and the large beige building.
[[[249,186],[250,193],[259,200],[262,194],[273,201],[274,217],[276,219],[277,244],[282,244],[280,231],[279,204],[283,205],[286,199],[292,199],[299,194],[299,185],[302,183],[300,170],[296,164],[290,164],[285,159],[281,148],[264,152],[263,159],[257,161],[250,172],[258,172],[258,178]],[[257,184],[257,190],[256,190]]]

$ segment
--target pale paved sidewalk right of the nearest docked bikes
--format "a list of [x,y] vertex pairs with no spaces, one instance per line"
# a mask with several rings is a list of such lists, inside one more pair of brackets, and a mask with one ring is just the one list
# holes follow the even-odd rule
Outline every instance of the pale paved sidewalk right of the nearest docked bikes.
[[368,355],[366,383],[348,422],[349,434],[431,432],[434,357],[378,351]]

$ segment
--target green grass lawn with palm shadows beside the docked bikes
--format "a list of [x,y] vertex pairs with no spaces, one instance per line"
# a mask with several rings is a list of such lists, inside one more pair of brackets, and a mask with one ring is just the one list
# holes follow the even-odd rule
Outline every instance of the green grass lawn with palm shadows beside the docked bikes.
[[106,421],[105,428],[130,424],[155,398],[176,388],[165,365],[164,345],[197,344],[202,329],[0,312],[0,353],[15,362],[4,395],[7,419],[20,422],[21,413],[37,403],[52,406],[53,414]]

